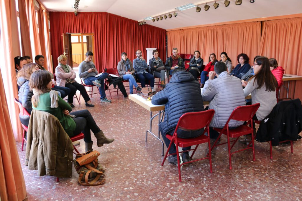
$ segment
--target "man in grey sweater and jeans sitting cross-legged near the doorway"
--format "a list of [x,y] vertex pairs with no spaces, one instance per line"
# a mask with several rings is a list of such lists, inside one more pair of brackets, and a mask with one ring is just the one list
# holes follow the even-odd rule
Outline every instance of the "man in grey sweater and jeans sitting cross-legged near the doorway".
[[[85,84],[95,85],[98,87],[98,90],[101,95],[101,103],[111,103],[111,100],[106,98],[104,85],[104,80],[109,77],[109,74],[103,73],[100,76],[95,77],[95,75],[98,74],[98,71],[95,68],[95,64],[91,61],[92,56],[93,53],[91,51],[86,52],[85,60],[82,61],[82,63],[80,63],[79,65],[79,77],[83,78]],[[127,93],[123,83],[120,82],[120,84],[118,84],[118,87],[120,88],[124,97],[127,97]]]

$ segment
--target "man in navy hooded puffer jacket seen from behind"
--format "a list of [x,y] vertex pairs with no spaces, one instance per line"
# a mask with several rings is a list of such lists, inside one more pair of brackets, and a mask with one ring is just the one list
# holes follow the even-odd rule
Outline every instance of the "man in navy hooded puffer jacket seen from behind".
[[[166,134],[173,134],[178,120],[183,114],[204,111],[199,82],[194,79],[191,73],[184,70],[184,68],[175,68],[170,82],[152,98],[152,103],[155,105],[165,104],[165,119],[159,124],[159,130],[167,147],[169,147],[171,141],[166,138]],[[200,136],[203,131],[203,128],[191,131],[178,129],[177,136],[193,138]],[[190,146],[182,148],[184,151],[189,149],[191,149]],[[176,153],[174,143],[171,145],[169,153]],[[170,163],[177,164],[176,154],[170,155],[167,159]],[[190,160],[188,152],[182,153],[182,162]]]

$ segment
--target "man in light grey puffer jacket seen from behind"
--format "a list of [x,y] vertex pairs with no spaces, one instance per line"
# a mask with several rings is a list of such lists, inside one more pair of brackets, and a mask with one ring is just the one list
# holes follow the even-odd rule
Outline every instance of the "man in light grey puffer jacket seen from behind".
[[[216,79],[214,79],[215,74]],[[233,110],[238,106],[245,105],[241,81],[235,76],[230,76],[227,73],[226,64],[219,61],[215,64],[214,71],[210,71],[209,80],[205,82],[201,95],[205,101],[210,101],[209,109],[215,110],[210,123],[210,138],[217,139],[219,133],[213,130],[213,127],[223,128]],[[231,120],[229,128],[232,129],[242,124],[243,121]]]

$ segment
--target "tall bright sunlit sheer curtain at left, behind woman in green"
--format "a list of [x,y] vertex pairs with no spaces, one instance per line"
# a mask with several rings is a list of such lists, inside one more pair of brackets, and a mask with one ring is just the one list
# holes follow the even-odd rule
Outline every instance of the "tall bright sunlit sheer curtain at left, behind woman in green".
[[[22,127],[19,119],[19,108],[14,104],[14,98],[18,97],[14,57],[20,55],[18,40],[17,12],[15,1],[0,1],[0,68],[5,83],[5,95],[8,100],[8,109],[15,140],[21,142]],[[2,85],[3,86],[3,85]],[[4,98],[5,96],[2,96]],[[1,119],[4,119],[1,116]]]

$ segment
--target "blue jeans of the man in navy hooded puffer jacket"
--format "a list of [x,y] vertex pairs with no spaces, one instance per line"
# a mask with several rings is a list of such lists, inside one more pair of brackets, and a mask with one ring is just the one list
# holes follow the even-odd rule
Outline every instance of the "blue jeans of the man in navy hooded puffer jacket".
[[[158,128],[159,128],[160,133],[162,134],[162,139],[164,140],[166,146],[169,147],[171,141],[166,137],[166,134],[163,133],[163,127],[165,125],[167,125],[167,122],[162,122],[162,123],[159,124]],[[174,132],[174,130],[172,132]],[[194,137],[200,136],[203,132],[204,132],[204,128],[202,128],[200,130],[194,130],[194,131],[185,131],[185,130],[178,129],[177,130],[177,137],[179,137],[179,138],[194,138]],[[171,133],[171,134],[173,134],[173,133]],[[186,150],[189,150],[189,149],[191,149],[191,146],[187,146],[187,147],[182,148],[183,151],[186,151]],[[169,149],[169,154],[172,154],[172,153],[176,153],[176,146],[175,146],[174,143],[171,145],[171,147]],[[176,154],[173,154],[173,156],[175,156],[175,155]]]

